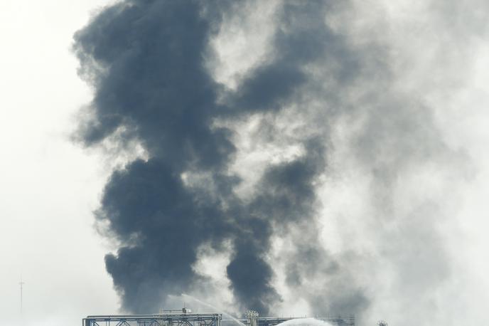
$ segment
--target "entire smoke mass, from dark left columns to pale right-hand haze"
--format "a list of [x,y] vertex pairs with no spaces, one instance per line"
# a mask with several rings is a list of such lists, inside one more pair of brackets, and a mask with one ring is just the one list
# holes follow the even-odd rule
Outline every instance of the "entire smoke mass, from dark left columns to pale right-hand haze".
[[76,136],[136,157],[95,212],[122,309],[190,293],[235,313],[447,322],[447,234],[473,177],[441,118],[467,87],[450,63],[470,62],[449,37],[483,21],[445,26],[466,19],[448,3],[126,0],[77,31],[94,97]]

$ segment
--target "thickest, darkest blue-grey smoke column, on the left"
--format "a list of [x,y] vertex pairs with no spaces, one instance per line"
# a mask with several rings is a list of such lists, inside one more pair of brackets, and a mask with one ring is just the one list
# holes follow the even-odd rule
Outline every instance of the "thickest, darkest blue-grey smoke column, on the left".
[[117,141],[136,139],[150,157],[114,172],[97,214],[122,242],[107,270],[134,312],[187,290],[196,248],[226,228],[220,202],[181,178],[204,170],[232,184],[220,174],[234,150],[229,131],[210,128],[220,110],[203,68],[210,31],[195,1],[123,1],[75,36],[82,75],[96,90],[82,139],[92,145],[123,130]]

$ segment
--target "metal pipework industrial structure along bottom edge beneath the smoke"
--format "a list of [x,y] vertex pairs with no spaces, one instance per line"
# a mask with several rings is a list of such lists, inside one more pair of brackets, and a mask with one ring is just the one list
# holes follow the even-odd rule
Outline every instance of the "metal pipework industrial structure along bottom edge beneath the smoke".
[[[218,313],[191,313],[187,308],[182,310],[161,310],[154,315],[95,315],[82,320],[82,326],[275,326],[287,320],[303,317],[259,317],[258,312],[249,310],[246,319],[222,320]],[[329,322],[334,326],[354,326],[355,317],[314,317]]]

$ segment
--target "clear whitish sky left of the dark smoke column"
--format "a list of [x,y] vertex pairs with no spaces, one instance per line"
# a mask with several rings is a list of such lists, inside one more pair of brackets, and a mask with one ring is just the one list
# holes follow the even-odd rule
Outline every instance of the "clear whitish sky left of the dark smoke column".
[[69,140],[90,101],[72,34],[104,3],[0,1],[1,325],[21,325],[21,275],[24,325],[78,325],[117,307],[92,228],[107,171]]

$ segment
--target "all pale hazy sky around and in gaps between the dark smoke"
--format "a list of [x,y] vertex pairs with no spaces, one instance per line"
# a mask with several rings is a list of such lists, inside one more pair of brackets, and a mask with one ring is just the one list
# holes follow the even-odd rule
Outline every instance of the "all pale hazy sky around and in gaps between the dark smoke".
[[[71,140],[80,108],[93,95],[77,75],[73,34],[109,2],[0,0],[2,325],[21,325],[21,275],[24,325],[77,325],[86,315],[119,309],[104,265],[117,242],[97,235],[92,212],[112,170],[130,159],[126,152],[111,155]],[[278,23],[272,17],[280,4],[249,1],[225,16],[210,44],[216,55],[208,69],[217,82],[239,89],[248,70],[274,56],[271,39]],[[294,102],[279,117],[216,122],[235,132],[232,172],[244,180],[235,191],[245,199],[268,162],[307,157],[294,134],[307,129],[299,122],[328,124],[328,131],[320,132],[328,150],[316,189],[318,241],[353,271],[352,279],[369,298],[367,325],[379,319],[389,325],[418,319],[426,325],[485,322],[488,16],[488,5],[478,0],[351,1],[346,9],[327,11],[325,21],[331,33],[365,55],[368,69],[355,85],[343,90],[326,78],[331,73],[334,79],[341,65],[337,58],[324,65],[316,61],[306,67],[318,88],[307,86],[301,100],[311,110],[303,120],[294,121]],[[370,65],[377,55],[379,69],[387,66],[388,73]],[[353,108],[341,114],[331,109],[331,120],[318,122],[316,107],[334,95],[321,91],[333,88],[341,90],[343,100],[331,105]],[[265,141],[268,135],[260,128],[271,125],[284,139]],[[274,311],[279,315],[311,313],[318,301],[328,300],[314,295],[320,285],[333,293],[349,280],[321,283],[319,274],[297,272],[310,275],[311,282],[286,286],[290,264],[281,257],[299,260],[300,251],[291,249],[306,246],[299,238],[294,231],[289,238],[271,238],[267,259],[277,266],[273,283],[282,301]],[[203,252],[194,267],[213,278],[213,286],[224,285],[216,301],[225,307],[232,303],[222,272],[229,259],[226,252]],[[307,298],[297,300],[297,293]]]

